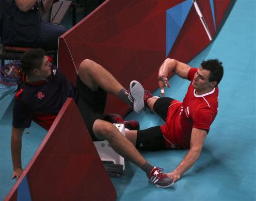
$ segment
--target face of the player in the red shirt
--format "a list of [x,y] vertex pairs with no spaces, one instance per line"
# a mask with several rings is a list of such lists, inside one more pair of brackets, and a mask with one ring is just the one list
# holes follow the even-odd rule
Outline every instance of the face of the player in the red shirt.
[[207,91],[212,89],[211,82],[209,81],[210,71],[202,69],[200,66],[194,76],[192,85],[197,91]]

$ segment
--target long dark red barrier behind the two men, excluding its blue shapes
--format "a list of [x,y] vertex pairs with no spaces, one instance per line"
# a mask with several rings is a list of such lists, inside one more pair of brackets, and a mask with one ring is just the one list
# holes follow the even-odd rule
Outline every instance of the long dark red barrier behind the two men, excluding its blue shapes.
[[[92,59],[103,65],[126,89],[134,79],[149,91],[157,89],[158,68],[166,58],[166,10],[184,1],[105,1],[61,36],[59,68],[75,83],[74,68],[78,69],[84,59]],[[217,25],[230,1],[214,1]],[[214,37],[210,3],[197,2]],[[221,5],[222,2],[225,3]],[[210,40],[192,6],[168,57],[188,62],[208,44]],[[105,113],[124,115],[129,110],[121,100],[108,96]]]

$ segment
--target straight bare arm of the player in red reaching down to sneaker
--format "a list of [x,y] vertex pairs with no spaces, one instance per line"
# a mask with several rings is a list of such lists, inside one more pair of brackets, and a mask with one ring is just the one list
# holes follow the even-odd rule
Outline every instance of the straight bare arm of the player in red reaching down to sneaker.
[[193,166],[201,154],[206,136],[207,132],[205,130],[197,128],[192,129],[189,151],[176,169],[171,173],[167,173],[167,176],[172,178],[173,181],[177,181],[180,179],[181,175],[183,175],[187,170],[190,169],[191,166]]

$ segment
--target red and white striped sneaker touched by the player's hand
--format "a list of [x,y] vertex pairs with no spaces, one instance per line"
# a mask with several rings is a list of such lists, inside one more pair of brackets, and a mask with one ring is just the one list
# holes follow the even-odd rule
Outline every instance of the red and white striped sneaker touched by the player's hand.
[[160,167],[154,167],[153,170],[149,173],[148,178],[157,187],[170,187],[173,185],[174,181],[166,174],[162,173],[162,171],[164,171],[164,169]]

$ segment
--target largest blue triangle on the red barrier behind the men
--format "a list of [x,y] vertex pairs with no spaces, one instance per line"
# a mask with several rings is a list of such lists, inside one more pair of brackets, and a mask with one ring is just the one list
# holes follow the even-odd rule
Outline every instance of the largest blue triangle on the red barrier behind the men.
[[192,0],[186,0],[177,6],[166,10],[166,57],[169,54],[192,5]]

